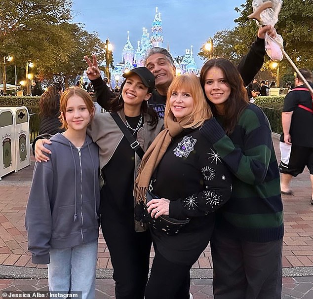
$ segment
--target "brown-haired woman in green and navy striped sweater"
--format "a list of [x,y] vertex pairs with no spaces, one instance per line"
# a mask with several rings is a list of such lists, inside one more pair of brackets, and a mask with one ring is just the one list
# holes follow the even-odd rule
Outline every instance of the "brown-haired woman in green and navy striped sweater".
[[283,206],[270,123],[230,61],[207,61],[200,82],[214,116],[200,133],[234,174],[210,242],[214,298],[280,299]]

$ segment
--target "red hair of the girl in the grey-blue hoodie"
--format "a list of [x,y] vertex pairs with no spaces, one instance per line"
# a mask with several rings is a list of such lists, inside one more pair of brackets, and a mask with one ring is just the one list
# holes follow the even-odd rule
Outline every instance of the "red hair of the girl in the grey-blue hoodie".
[[90,114],[90,122],[93,119],[95,109],[94,109],[93,101],[92,101],[90,94],[86,90],[80,87],[69,87],[62,93],[61,99],[60,99],[60,112],[63,113],[63,117],[62,115],[59,116],[59,119],[62,123],[61,129],[64,128],[67,130],[69,127],[65,118],[66,106],[67,106],[68,100],[75,95],[78,96],[79,98],[82,98],[83,101],[85,102],[87,110]]

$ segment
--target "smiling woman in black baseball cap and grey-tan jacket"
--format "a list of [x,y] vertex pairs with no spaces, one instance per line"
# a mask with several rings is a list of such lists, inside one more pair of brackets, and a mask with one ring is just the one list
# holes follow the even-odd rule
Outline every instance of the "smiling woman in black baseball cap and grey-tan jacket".
[[[92,69],[88,68],[87,74],[90,71]],[[155,87],[154,75],[147,68],[140,67],[123,77],[125,80],[117,97],[107,99],[105,107],[108,112],[95,115],[87,134],[99,146],[100,220],[114,268],[116,298],[143,299],[152,241],[150,231],[134,218],[133,187],[141,159],[111,113],[119,115],[144,151],[163,128],[163,119],[159,120],[148,105]],[[92,80],[92,84],[105,87],[101,77]],[[40,150],[46,150],[41,144],[41,140],[36,143],[37,159],[43,155]],[[43,155],[42,160],[45,159]]]

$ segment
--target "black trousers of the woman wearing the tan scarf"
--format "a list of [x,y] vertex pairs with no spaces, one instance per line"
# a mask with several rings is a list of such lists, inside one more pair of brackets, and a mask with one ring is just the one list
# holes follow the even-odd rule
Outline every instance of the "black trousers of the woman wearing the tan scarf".
[[191,267],[170,262],[156,250],[145,299],[189,299]]

